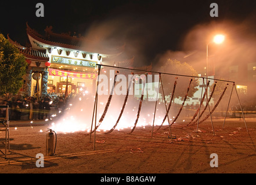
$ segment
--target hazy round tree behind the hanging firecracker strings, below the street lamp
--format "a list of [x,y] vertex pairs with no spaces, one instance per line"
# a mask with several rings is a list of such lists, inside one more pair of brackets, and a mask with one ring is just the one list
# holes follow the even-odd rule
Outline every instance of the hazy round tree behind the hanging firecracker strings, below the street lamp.
[[[164,75],[162,74],[163,87],[165,96],[171,95],[172,90],[174,88],[174,82],[177,81],[174,97],[175,98],[184,98],[186,92],[188,90],[190,79],[192,79],[192,83],[190,85],[188,97],[193,97],[194,92],[198,90],[197,86],[199,86],[199,80],[194,77],[187,76],[197,76],[196,70],[187,64],[186,62],[181,63],[180,61],[171,60],[168,58],[165,62],[162,62],[158,71],[171,73],[174,75]],[[177,76],[176,76],[177,75]],[[186,75],[186,76],[178,76],[178,75]],[[176,79],[176,77],[178,79]]]

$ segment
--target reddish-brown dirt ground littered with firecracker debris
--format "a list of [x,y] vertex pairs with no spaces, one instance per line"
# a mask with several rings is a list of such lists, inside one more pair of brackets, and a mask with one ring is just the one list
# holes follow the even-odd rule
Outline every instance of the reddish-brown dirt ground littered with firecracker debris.
[[[256,119],[214,120],[193,127],[171,127],[176,139],[168,138],[167,126],[156,132],[151,127],[96,132],[57,133],[55,156],[44,156],[44,167],[36,166],[36,155],[45,155],[48,126],[10,127],[10,152],[0,156],[0,173],[255,173]],[[157,128],[157,127],[155,127]],[[41,131],[40,131],[41,130]],[[1,142],[5,132],[0,133]],[[4,145],[0,148],[4,151]],[[218,155],[212,168],[210,155]],[[217,158],[215,158],[217,159]]]

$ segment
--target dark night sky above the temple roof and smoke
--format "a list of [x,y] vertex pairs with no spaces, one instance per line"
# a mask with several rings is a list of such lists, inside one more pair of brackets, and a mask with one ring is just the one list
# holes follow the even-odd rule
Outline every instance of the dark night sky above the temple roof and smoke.
[[[44,4],[44,17],[35,15],[38,2]],[[213,2],[219,17],[210,16]],[[143,57],[138,58],[147,61],[167,50],[182,50],[183,38],[196,25],[256,20],[256,1],[1,1],[0,14],[0,32],[21,45],[28,41],[26,22],[41,34],[52,25],[56,33],[98,34],[110,45],[126,43],[127,50],[139,51]],[[253,33],[255,28],[254,22],[248,29]]]

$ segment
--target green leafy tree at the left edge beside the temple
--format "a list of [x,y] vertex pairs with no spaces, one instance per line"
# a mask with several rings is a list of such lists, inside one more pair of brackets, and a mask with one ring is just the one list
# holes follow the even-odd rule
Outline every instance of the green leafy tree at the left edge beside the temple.
[[23,54],[0,34],[0,96],[17,94],[22,87],[26,68]]

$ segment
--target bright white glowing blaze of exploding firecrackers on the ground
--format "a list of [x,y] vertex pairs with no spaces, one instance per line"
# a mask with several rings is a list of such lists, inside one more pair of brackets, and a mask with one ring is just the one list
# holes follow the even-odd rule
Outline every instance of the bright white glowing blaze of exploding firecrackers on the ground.
[[[64,111],[59,111],[59,115],[53,114],[52,117],[55,120],[51,129],[56,132],[64,132],[64,133],[72,133],[72,132],[91,132],[91,129],[94,130],[95,127],[95,117],[92,123],[92,114],[93,114],[93,101],[91,103],[81,103],[84,101],[86,97],[77,98],[77,102],[68,103],[68,105],[72,105]],[[93,97],[92,97],[93,98]],[[94,100],[94,99],[93,99]],[[97,112],[97,122],[96,125],[99,124],[100,116],[102,116],[104,106],[106,101],[99,101],[98,103],[98,112]],[[132,129],[134,127],[134,123],[136,120],[138,107],[129,105],[129,101],[127,106],[125,107],[125,112],[123,112],[120,121],[118,122],[115,130],[121,131],[123,129]],[[163,103],[161,105],[164,105]],[[118,116],[120,114],[120,110],[122,104],[118,104],[115,102],[110,103],[110,108],[107,112],[107,115],[104,117],[104,120],[99,125],[97,132],[106,132],[109,131],[114,125],[117,123]],[[147,108],[144,106],[143,108]],[[142,109],[143,109],[142,108]],[[160,109],[157,109],[157,112]],[[151,112],[152,111],[152,112]],[[60,116],[62,113],[62,116]],[[154,119],[154,125],[161,125],[163,122],[164,112],[162,112],[161,116],[156,116]],[[154,106],[150,110],[150,112],[141,112],[139,121],[136,127],[145,128],[147,125],[152,126],[153,124],[153,116],[154,116]],[[163,125],[168,125],[168,121],[165,120]]]

